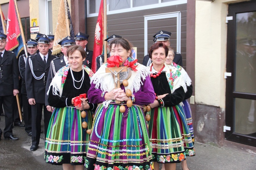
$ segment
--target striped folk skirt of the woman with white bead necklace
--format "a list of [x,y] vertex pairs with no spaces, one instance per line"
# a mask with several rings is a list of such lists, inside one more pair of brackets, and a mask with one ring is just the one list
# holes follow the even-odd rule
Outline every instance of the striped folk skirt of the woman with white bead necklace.
[[[89,143],[86,130],[92,127],[91,112],[81,117],[81,111],[74,107],[55,108],[49,122],[45,140],[46,163],[83,165]],[[84,129],[82,122],[87,122]]]

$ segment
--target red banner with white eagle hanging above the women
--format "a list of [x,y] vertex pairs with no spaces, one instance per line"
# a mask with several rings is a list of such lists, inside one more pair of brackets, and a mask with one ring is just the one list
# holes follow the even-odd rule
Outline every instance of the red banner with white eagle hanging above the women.
[[103,45],[104,45],[104,6],[103,1],[100,2],[100,10],[98,15],[98,20],[95,28],[95,36],[94,36],[94,47],[93,47],[93,61],[91,63],[91,70],[95,73],[96,72],[96,58],[102,54]]

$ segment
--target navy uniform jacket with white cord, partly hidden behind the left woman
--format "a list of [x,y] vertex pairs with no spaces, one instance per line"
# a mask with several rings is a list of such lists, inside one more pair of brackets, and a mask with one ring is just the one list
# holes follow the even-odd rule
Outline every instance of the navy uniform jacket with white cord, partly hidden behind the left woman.
[[49,90],[49,86],[52,82],[53,77],[55,76],[55,74],[58,72],[58,70],[61,67],[66,66],[66,62],[64,60],[64,55],[60,56],[59,58],[53,59],[51,61],[51,66],[50,66],[50,70],[48,73],[48,77],[47,77],[47,82],[46,82],[46,91],[45,91],[45,106],[48,106],[48,96],[46,95],[47,91]]

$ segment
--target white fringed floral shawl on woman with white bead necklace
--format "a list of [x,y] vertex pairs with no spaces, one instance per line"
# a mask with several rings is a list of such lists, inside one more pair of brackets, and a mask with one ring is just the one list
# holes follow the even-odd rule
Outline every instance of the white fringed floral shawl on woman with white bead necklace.
[[[53,86],[53,95],[60,96],[62,95],[62,90],[65,84],[65,81],[67,79],[68,71],[69,71],[70,65],[66,65],[59,69],[59,71],[54,76],[49,90],[47,92],[47,95],[49,94],[49,91],[51,89],[51,86]],[[85,65],[82,66],[82,68],[86,71],[86,73],[89,75],[90,79],[93,77],[94,73],[91,71],[91,69]]]

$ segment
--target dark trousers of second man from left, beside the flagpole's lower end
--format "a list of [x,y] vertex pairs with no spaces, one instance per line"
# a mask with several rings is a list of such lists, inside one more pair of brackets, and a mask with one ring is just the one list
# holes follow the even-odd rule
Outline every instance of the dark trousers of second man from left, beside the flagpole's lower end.
[[25,131],[27,133],[32,132],[32,114],[31,114],[31,105],[28,103],[27,94],[22,94],[22,103],[23,103],[23,118],[25,122]]

